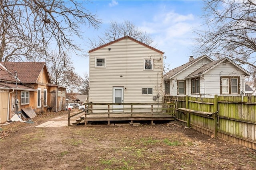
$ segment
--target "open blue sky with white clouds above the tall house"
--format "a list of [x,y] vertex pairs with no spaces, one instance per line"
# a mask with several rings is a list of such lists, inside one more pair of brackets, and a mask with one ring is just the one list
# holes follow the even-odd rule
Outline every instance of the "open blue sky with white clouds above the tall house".
[[[89,51],[88,38],[93,39],[102,35],[109,27],[110,21],[132,21],[143,31],[149,33],[154,40],[156,49],[164,52],[167,68],[173,69],[188,62],[194,55],[191,51],[195,34],[192,28],[202,25],[203,1],[90,1],[86,9],[98,15],[102,20],[97,30],[84,29],[86,39],[80,42]],[[89,59],[72,55],[75,70],[82,75],[88,73]],[[168,66],[168,64],[170,64]]]

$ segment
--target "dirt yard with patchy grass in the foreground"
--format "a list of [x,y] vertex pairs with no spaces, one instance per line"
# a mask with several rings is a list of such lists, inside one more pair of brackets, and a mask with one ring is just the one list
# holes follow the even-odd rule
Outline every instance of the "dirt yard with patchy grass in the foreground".
[[256,169],[256,150],[178,124],[35,128],[62,115],[67,113],[38,115],[33,124],[1,125],[0,169]]

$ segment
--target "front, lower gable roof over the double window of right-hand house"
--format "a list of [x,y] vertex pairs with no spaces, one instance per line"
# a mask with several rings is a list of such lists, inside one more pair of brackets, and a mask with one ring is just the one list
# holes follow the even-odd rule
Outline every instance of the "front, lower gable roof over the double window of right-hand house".
[[198,68],[196,71],[192,72],[191,74],[189,74],[188,76],[186,76],[186,78],[192,78],[195,76],[200,76],[205,74],[206,72],[208,72],[209,70],[211,70],[212,68],[218,66],[219,64],[221,64],[223,61],[227,60],[228,62],[230,62],[231,64],[234,64],[236,67],[238,67],[240,70],[244,71],[247,76],[250,75],[250,72],[246,71],[244,68],[242,68],[241,66],[239,66],[238,64],[234,63],[233,61],[231,61],[230,59],[228,59],[227,57],[223,58],[223,59],[219,59],[216,60],[212,63],[208,63],[203,65],[202,67]]

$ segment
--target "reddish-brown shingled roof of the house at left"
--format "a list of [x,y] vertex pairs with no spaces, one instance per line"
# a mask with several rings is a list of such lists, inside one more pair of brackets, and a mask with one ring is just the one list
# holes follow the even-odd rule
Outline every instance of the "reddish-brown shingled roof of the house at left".
[[[46,65],[44,62],[1,62],[1,64],[10,73],[14,73],[15,71],[17,71],[18,78],[22,83],[36,83],[36,80],[42,69],[46,69]],[[48,74],[47,78],[50,82],[50,77]]]

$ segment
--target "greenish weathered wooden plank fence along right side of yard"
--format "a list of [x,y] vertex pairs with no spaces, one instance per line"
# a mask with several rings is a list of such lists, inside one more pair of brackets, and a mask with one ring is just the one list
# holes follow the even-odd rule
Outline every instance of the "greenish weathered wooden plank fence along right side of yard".
[[[228,141],[256,149],[256,96],[165,96],[164,101],[170,98],[177,102],[178,121],[206,135],[218,135]],[[184,111],[186,109],[190,111]],[[193,111],[205,112],[206,115],[210,113],[212,116],[194,114]]]

